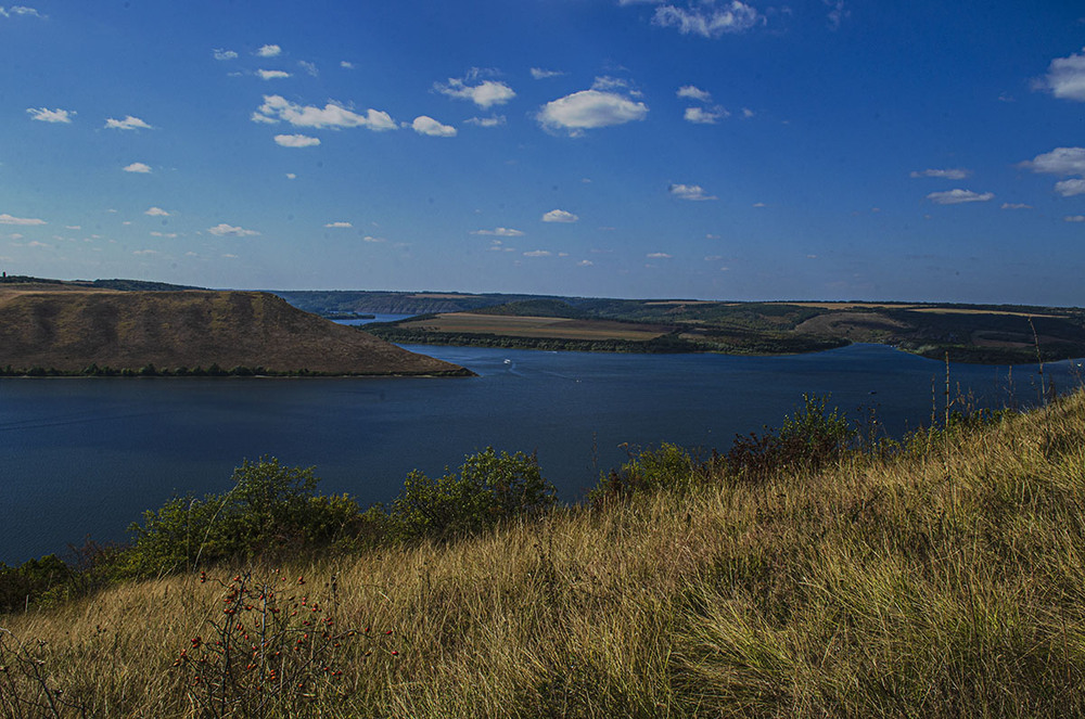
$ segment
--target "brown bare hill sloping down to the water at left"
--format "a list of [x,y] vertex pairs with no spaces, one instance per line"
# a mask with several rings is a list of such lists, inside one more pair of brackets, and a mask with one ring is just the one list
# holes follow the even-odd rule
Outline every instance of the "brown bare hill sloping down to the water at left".
[[[303,312],[260,292],[124,292],[0,284],[0,368],[80,373],[221,370],[457,375],[467,370]],[[243,372],[243,373],[248,373]]]

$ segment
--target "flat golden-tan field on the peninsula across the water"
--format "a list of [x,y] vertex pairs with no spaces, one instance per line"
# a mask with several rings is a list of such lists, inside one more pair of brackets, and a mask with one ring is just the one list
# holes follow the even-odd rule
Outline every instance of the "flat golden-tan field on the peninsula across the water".
[[508,335],[512,337],[551,337],[556,339],[629,339],[647,342],[666,334],[671,328],[610,320],[572,320],[554,317],[514,317],[448,312],[437,317],[404,322],[407,329],[430,332],[463,332]]

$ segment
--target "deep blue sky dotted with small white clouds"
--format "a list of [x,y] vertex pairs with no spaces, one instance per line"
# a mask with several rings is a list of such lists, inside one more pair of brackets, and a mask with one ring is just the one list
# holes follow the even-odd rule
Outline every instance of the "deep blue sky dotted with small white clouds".
[[0,5],[0,267],[1085,305],[1085,7]]

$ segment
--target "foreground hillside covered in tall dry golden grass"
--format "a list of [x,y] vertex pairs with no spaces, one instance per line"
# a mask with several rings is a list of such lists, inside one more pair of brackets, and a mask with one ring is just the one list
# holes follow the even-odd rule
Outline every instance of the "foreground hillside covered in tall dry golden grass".
[[812,429],[643,453],[593,506],[456,541],[2,617],[0,711],[1085,714],[1085,395],[821,464]]

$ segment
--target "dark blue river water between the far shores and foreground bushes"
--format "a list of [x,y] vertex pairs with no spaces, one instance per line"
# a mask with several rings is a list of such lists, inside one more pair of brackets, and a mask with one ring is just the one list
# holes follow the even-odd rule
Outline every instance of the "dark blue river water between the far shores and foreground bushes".
[[[315,465],[324,492],[388,501],[414,468],[434,475],[487,446],[538,452],[575,501],[625,446],[726,450],[778,425],[803,393],[869,408],[891,433],[931,415],[945,365],[877,345],[792,357],[608,355],[409,347],[474,370],[470,378],[0,380],[0,561],[87,535],[126,537],[175,493],[225,491],[263,454]],[[1074,384],[1073,363],[1046,368]],[[1036,400],[1034,367],[954,365],[954,391],[985,406]],[[860,409],[861,408],[861,409]]]

